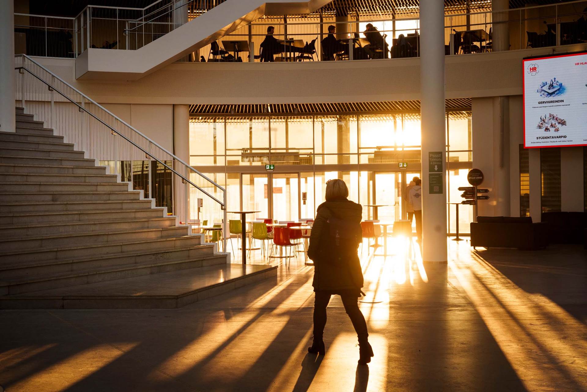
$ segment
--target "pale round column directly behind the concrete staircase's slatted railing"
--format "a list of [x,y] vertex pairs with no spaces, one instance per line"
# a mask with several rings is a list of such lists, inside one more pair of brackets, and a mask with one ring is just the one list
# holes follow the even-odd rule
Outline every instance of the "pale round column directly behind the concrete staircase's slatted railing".
[[[188,165],[190,164],[190,105],[173,105],[173,153]],[[190,178],[181,163],[174,163],[174,169],[182,175],[187,174],[186,177]],[[190,196],[187,190],[190,189],[190,186],[181,182],[178,176],[173,177],[173,199],[176,208],[174,214],[180,217],[181,222],[189,223],[191,219]]]

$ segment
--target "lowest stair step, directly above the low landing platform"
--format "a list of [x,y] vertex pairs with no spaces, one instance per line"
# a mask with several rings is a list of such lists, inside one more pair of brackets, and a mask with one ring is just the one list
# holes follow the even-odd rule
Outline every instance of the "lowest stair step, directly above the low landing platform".
[[[192,256],[180,259],[90,267],[65,272],[55,272],[53,270],[49,274],[14,277],[5,282],[0,281],[0,293],[4,292],[4,295],[10,295],[35,292],[38,290],[54,289],[56,287],[74,286],[76,284],[104,282],[152,273],[226,264],[226,256],[224,254],[214,254],[212,253],[212,249],[213,246],[210,244],[198,245],[191,249],[192,253],[194,253]],[[71,264],[64,266],[70,267]]]

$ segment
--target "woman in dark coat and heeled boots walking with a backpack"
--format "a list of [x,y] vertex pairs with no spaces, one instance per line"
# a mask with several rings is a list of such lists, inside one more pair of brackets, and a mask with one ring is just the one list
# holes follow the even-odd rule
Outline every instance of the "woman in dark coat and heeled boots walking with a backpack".
[[326,182],[326,202],[318,206],[312,226],[308,257],[314,261],[314,336],[308,352],[325,353],[322,337],[326,306],[330,297],[338,294],[359,338],[359,364],[366,364],[373,357],[373,349],[367,340],[365,317],[357,306],[363,287],[363,272],[357,256],[362,241],[363,207],[348,200],[348,196],[349,190],[343,180]]

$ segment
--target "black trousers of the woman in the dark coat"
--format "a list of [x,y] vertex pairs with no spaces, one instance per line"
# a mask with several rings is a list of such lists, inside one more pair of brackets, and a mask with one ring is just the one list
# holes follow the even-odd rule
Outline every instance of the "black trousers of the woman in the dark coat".
[[[326,326],[326,306],[330,302],[332,294],[325,292],[315,292],[314,297],[314,339],[322,339],[324,327]],[[355,295],[341,295],[342,304],[345,306],[346,314],[349,315],[350,321],[355,327],[359,341],[367,340],[367,323],[365,317],[361,313],[357,305],[357,297]]]

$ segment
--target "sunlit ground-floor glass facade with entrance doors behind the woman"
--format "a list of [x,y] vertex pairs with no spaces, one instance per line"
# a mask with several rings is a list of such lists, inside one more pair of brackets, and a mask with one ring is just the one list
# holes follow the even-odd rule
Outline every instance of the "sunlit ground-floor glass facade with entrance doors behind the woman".
[[[471,132],[471,112],[447,113],[447,202],[462,200]],[[419,113],[190,119],[190,164],[227,187],[228,210],[259,211],[254,219],[312,219],[326,181],[336,178],[345,180],[350,200],[382,205],[365,207],[364,219],[406,219],[404,193],[420,176],[420,145]],[[460,232],[468,233],[473,208],[459,207]],[[454,205],[447,217],[456,232]]]

